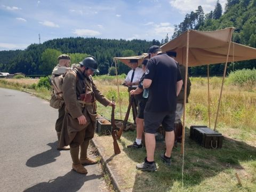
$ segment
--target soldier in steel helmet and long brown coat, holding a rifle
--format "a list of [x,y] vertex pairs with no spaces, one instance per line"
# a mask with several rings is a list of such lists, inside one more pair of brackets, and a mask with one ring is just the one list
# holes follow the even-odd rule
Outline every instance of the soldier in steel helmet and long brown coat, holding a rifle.
[[97,163],[96,160],[87,157],[87,148],[94,135],[97,116],[95,101],[99,101],[105,107],[115,106],[115,103],[108,100],[93,83],[93,73],[99,72],[97,60],[90,56],[79,64],[79,67],[75,66],[63,78],[62,91],[66,113],[59,147],[69,145],[72,169],[86,174],[87,170],[82,165]]

